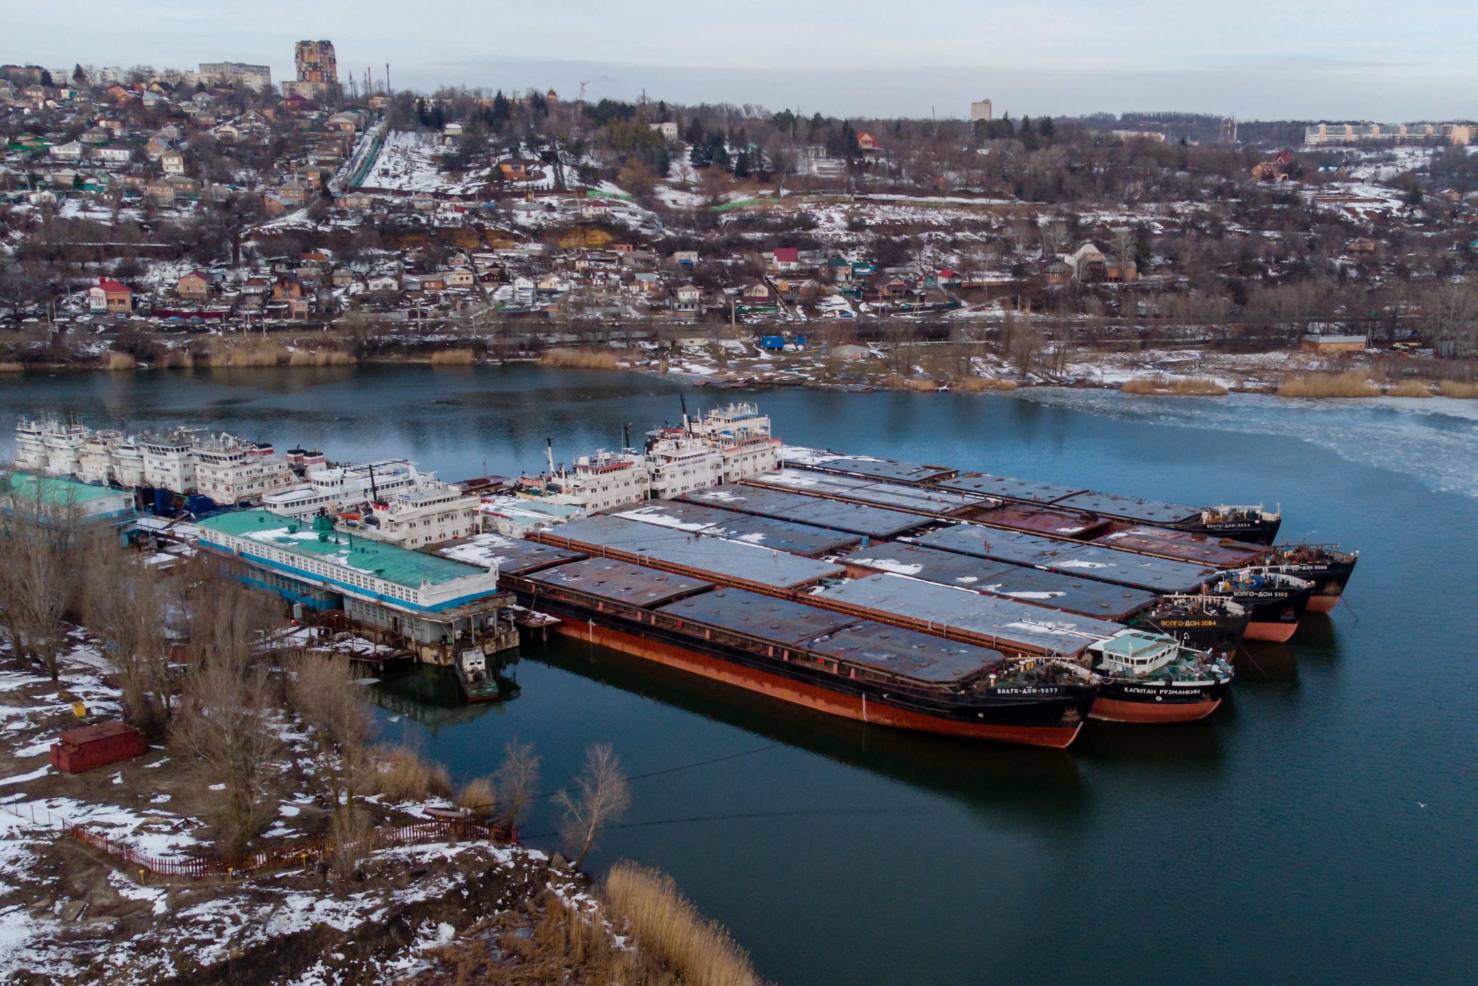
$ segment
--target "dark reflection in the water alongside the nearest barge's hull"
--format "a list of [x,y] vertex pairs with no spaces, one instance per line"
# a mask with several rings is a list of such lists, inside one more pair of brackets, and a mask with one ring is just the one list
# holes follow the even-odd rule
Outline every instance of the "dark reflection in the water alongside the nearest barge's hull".
[[1030,825],[1061,823],[1088,810],[1073,757],[1061,749],[866,724],[565,637],[525,642],[523,656]]

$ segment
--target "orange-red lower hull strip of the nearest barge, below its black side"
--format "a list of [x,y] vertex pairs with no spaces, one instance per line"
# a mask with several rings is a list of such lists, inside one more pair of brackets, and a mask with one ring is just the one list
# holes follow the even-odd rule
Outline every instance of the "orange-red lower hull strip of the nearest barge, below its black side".
[[576,640],[599,643],[603,647],[630,653],[647,661],[656,661],[670,668],[701,674],[724,684],[735,684],[751,692],[760,692],[770,698],[794,702],[820,713],[856,718],[873,726],[896,726],[899,729],[916,729],[927,733],[943,733],[946,736],[965,736],[968,739],[998,739],[1011,744],[1029,744],[1032,747],[1067,747],[1077,738],[1082,724],[1073,727],[1048,726],[977,726],[974,723],[959,723],[947,718],[922,715],[907,710],[887,705],[865,704],[862,698],[829,692],[803,681],[792,681],[776,674],[767,674],[757,668],[709,658],[702,653],[674,647],[656,640],[646,640],[634,634],[621,633],[609,627],[593,624],[562,622],[554,627],[556,633]]

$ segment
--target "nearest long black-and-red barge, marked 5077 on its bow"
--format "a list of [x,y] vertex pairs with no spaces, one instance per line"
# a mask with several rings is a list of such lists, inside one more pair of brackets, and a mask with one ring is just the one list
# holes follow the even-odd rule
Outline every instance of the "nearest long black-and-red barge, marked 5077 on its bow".
[[624,560],[504,584],[559,616],[559,634],[869,724],[1063,748],[1098,693],[1098,677],[1073,662],[1008,658]]

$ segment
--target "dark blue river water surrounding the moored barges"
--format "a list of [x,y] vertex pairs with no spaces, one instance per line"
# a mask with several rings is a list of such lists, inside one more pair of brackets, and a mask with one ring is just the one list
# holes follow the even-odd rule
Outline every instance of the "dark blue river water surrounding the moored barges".
[[[545,438],[563,461],[619,445],[622,424],[675,420],[680,390],[531,367],[93,373],[6,378],[0,412],[186,423],[458,479],[538,469]],[[1089,723],[1067,751],[831,720],[560,642],[525,645],[495,707],[393,676],[383,729],[454,778],[492,770],[514,736],[544,755],[547,789],[596,742],[634,776],[667,772],[633,783],[593,868],[672,874],[777,983],[1474,982],[1471,405],[740,396],[795,443],[1278,504],[1286,537],[1360,548],[1348,606],[1249,645],[1209,720]],[[554,849],[557,826],[542,801],[531,843]]]

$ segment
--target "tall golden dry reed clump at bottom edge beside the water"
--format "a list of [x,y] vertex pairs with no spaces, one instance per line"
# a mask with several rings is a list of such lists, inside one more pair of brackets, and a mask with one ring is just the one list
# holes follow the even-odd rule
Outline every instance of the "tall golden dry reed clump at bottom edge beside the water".
[[708,921],[667,874],[616,863],[605,899],[637,943],[689,986],[760,986],[749,955],[718,922]]

